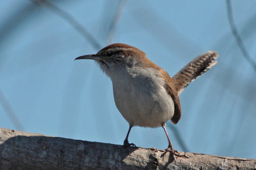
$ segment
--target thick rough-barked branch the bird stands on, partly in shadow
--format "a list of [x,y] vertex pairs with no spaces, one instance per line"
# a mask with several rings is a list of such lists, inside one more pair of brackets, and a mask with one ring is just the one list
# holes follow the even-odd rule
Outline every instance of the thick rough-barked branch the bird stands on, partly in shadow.
[[256,169],[255,159],[179,154],[0,128],[0,169]]

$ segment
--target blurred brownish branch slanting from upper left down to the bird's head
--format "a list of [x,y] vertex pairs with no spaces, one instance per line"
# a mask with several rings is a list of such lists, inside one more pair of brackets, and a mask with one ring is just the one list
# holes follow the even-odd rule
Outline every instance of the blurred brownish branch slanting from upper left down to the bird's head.
[[30,0],[30,1],[32,1],[33,3],[38,4],[38,5],[46,6],[52,12],[54,12],[56,15],[59,15],[61,18],[66,20],[70,25],[72,25],[72,27],[74,27],[74,29],[76,29],[76,31],[78,31],[86,40],[88,40],[92,44],[92,46],[93,46],[93,48],[95,48],[95,50],[99,50],[102,47],[100,45],[100,43],[95,38],[93,38],[92,34],[90,34],[83,27],[82,24],[77,22],[77,20],[74,17],[72,17],[69,13],[67,13],[67,11],[61,10],[54,4],[49,3],[49,1],[47,1],[47,0]]

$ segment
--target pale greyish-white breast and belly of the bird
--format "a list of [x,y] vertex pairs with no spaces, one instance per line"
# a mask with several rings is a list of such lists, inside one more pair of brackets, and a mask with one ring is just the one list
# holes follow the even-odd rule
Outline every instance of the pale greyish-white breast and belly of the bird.
[[132,67],[108,75],[116,107],[130,125],[159,127],[173,117],[173,100],[157,69]]

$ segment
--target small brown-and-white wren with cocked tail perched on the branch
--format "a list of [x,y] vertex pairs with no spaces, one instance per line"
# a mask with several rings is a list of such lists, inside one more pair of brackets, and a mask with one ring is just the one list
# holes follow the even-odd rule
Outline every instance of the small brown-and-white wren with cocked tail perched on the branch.
[[117,43],[106,46],[96,54],[77,59],[92,59],[112,80],[115,104],[129,123],[124,146],[134,125],[163,127],[168,139],[168,149],[174,153],[165,129],[172,120],[177,124],[181,116],[179,94],[193,80],[214,66],[218,53],[207,52],[189,62],[170,78],[161,67],[150,61],[144,52],[133,46]]

